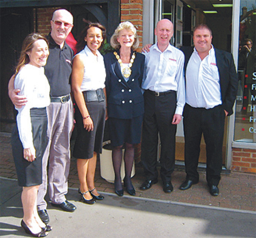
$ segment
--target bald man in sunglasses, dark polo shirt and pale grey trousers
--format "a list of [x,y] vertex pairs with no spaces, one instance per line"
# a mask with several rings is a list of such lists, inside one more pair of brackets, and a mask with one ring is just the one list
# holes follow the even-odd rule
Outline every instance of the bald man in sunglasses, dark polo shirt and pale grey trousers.
[[[65,42],[73,27],[73,16],[65,9],[56,10],[51,20],[52,31],[48,35],[49,51],[45,74],[51,87],[51,104],[48,107],[49,143],[42,158],[42,184],[39,187],[37,208],[43,222],[49,222],[46,210],[47,202],[47,164],[49,163],[49,196],[51,204],[65,211],[74,211],[76,207],[68,202],[68,175],[70,168],[70,137],[73,127],[73,104],[69,84],[72,72],[73,51]],[[13,79],[14,80],[14,79]],[[26,103],[26,98],[18,96],[12,79],[9,82],[9,96],[16,107]]]

